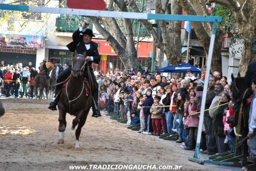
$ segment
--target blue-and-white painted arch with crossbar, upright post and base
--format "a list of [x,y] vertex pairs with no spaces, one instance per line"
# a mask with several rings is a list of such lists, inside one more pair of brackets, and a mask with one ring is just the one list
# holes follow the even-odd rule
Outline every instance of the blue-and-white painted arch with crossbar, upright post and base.
[[[207,60],[207,70],[205,76],[205,85],[209,82],[209,72],[212,62],[212,52],[215,41],[215,33],[217,23],[221,22],[221,17],[215,16],[196,16],[196,15],[173,15],[173,14],[147,14],[147,13],[135,13],[135,12],[118,12],[118,11],[97,11],[97,10],[85,10],[85,9],[65,9],[65,8],[51,8],[42,6],[22,6],[22,5],[9,5],[0,4],[1,10],[11,10],[11,11],[28,11],[28,12],[42,12],[42,13],[53,13],[53,14],[75,14],[91,17],[113,17],[113,18],[128,18],[128,19],[141,19],[141,20],[176,20],[176,21],[192,21],[192,22],[210,22],[213,23],[212,34],[209,45],[208,60]],[[204,121],[204,109],[205,100],[207,94],[207,86],[204,86],[203,97],[201,103],[200,120],[198,126],[198,135],[196,141],[196,150],[194,157],[189,157],[189,160],[199,162],[203,164],[204,162],[210,163],[209,160],[199,159],[201,132]],[[216,162],[212,162],[215,163]],[[217,164],[227,164],[232,165],[233,162],[221,162]]]

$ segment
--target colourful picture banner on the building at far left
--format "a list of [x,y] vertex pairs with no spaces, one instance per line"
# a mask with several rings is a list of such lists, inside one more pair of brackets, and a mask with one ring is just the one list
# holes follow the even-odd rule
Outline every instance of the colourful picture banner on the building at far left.
[[0,46],[44,48],[44,37],[17,34],[0,34]]

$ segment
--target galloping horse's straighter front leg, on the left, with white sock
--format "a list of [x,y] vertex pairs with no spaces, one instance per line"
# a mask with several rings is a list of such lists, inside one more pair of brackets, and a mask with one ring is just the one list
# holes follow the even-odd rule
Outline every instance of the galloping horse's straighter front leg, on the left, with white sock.
[[58,126],[58,131],[60,132],[59,134],[59,139],[58,139],[58,144],[63,144],[64,143],[64,131],[67,126],[66,122],[66,108],[62,104],[58,104],[58,109],[59,109],[59,126]]

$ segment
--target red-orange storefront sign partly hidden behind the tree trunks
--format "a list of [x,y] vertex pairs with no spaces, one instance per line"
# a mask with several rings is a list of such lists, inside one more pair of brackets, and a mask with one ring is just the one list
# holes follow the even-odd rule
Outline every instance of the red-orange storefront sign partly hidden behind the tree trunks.
[[[93,40],[93,42],[98,43],[98,51],[99,54],[107,54],[107,55],[117,55],[111,45],[106,40]],[[136,43],[134,43],[136,47]],[[138,56],[139,57],[149,57],[150,53],[153,49],[153,43],[151,42],[140,42],[138,48]]]

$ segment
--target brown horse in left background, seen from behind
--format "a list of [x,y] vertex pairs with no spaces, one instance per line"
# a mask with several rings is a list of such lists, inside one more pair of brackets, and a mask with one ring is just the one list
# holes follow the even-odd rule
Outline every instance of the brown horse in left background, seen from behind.
[[46,90],[46,99],[48,99],[48,82],[47,76],[44,74],[37,74],[34,79],[35,86],[35,97],[38,98],[38,88],[39,88],[39,99],[43,97],[44,88]]

